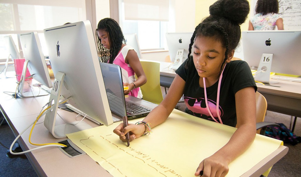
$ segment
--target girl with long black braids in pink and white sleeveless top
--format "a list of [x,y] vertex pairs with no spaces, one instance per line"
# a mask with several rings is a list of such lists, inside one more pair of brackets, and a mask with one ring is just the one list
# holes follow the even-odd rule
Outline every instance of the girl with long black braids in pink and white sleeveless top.
[[[112,18],[102,19],[98,23],[97,34],[102,62],[113,63],[121,67],[123,86],[129,87],[124,94],[142,98],[140,86],[146,83],[146,76],[137,53],[131,46],[126,45],[118,23]],[[103,50],[104,48],[107,50]],[[107,59],[105,59],[106,56]]]

